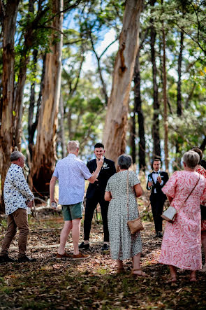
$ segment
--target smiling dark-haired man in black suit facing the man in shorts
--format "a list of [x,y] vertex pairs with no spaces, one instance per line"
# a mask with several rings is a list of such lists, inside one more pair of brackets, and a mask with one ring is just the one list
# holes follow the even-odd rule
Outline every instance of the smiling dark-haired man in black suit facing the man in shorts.
[[[101,156],[105,153],[104,146],[102,143],[96,143],[94,146],[94,154],[97,160],[100,160]],[[89,171],[92,172],[96,169],[96,159],[89,160],[87,162]],[[89,248],[89,234],[91,230],[91,220],[93,218],[94,210],[99,203],[101,206],[101,216],[103,220],[103,232],[104,232],[104,243],[102,251],[108,250],[109,248],[109,231],[108,231],[108,205],[109,202],[105,202],[105,188],[108,183],[110,176],[116,173],[115,162],[108,160],[104,157],[103,166],[100,173],[97,176],[97,181],[93,184],[89,183],[86,194],[86,208],[84,214],[84,242],[80,244],[79,248]]]

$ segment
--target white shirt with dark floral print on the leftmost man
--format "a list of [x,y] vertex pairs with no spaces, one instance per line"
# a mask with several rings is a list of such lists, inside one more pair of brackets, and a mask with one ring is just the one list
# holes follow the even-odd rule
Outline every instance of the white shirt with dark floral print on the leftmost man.
[[19,208],[27,208],[27,200],[32,201],[32,194],[23,170],[17,164],[11,164],[7,171],[6,179],[3,186],[3,199],[5,203],[5,213],[9,215]]

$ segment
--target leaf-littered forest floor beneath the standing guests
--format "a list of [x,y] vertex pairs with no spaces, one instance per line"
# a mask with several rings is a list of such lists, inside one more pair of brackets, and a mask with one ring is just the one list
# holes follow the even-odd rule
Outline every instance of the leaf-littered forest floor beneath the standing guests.
[[[166,283],[168,267],[158,262],[161,239],[154,238],[149,221],[141,232],[145,279],[131,276],[131,260],[125,262],[125,274],[116,274],[110,252],[101,251],[100,224],[92,225],[91,250],[84,251],[91,258],[81,261],[56,260],[61,214],[30,218],[29,225],[28,256],[37,261],[0,265],[0,309],[206,309],[206,274],[198,272],[198,282],[190,283],[189,272],[179,270],[177,283]],[[0,243],[5,228],[3,221]],[[66,250],[72,251],[71,237]],[[17,238],[10,256],[17,258]]]

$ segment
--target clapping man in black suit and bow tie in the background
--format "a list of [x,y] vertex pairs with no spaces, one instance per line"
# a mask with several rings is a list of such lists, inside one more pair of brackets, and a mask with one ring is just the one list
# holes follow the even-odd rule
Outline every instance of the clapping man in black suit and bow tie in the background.
[[152,162],[152,167],[154,171],[152,174],[149,174],[147,181],[147,190],[151,190],[150,202],[152,206],[152,214],[154,218],[154,226],[156,230],[156,237],[163,237],[162,234],[162,217],[163,206],[165,200],[167,199],[166,195],[163,194],[162,188],[165,183],[168,181],[168,173],[164,171],[160,171],[161,161],[159,159],[155,159]]

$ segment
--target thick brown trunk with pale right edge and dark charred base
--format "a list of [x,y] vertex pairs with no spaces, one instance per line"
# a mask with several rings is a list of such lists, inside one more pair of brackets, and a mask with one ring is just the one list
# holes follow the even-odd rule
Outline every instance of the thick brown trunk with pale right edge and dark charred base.
[[52,28],[58,29],[52,35],[51,52],[46,55],[45,79],[42,94],[41,110],[38,118],[36,146],[32,160],[32,178],[34,190],[49,193],[49,183],[56,160],[57,113],[61,87],[61,48],[63,13],[62,0],[52,0]]

